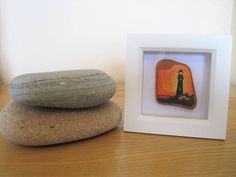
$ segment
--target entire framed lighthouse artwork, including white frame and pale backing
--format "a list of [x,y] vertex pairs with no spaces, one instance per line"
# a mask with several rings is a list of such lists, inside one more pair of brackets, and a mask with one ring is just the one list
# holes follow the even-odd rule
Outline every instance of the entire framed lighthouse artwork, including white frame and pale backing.
[[230,36],[130,34],[127,42],[125,131],[225,139]]

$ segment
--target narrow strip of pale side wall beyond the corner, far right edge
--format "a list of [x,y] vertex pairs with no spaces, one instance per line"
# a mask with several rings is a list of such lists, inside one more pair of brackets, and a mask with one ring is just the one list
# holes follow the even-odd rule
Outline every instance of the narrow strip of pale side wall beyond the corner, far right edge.
[[233,49],[232,49],[231,83],[236,85],[236,0],[234,0],[234,5],[233,5],[232,36],[233,36]]

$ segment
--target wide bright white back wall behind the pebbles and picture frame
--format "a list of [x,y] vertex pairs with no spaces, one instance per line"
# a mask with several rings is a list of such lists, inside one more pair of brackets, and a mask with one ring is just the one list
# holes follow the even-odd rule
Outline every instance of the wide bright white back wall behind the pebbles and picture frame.
[[124,80],[127,33],[230,34],[233,0],[0,0],[5,82],[100,68]]

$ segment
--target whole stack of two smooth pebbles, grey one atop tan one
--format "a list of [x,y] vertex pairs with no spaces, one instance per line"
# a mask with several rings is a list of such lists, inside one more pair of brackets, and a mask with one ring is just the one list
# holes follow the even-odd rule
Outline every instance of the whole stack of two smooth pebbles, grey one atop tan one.
[[120,108],[109,99],[116,83],[99,70],[24,74],[9,86],[0,131],[13,143],[42,146],[78,141],[115,128]]

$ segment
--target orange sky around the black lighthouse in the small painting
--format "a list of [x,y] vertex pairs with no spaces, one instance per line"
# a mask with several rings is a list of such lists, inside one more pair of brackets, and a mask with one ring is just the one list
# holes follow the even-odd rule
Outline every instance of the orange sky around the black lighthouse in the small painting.
[[162,69],[158,73],[157,94],[163,96],[175,96],[177,88],[178,71],[182,69],[184,72],[183,92],[189,95],[194,93],[191,82],[191,73],[185,65],[174,65],[170,69]]

